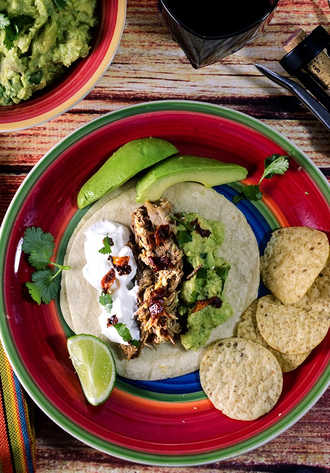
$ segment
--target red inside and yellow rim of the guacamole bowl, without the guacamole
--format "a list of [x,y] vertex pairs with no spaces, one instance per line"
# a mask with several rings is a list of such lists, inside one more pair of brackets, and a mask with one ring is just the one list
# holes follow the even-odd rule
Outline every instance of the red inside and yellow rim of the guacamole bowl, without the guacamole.
[[124,29],[126,0],[101,1],[99,25],[89,54],[73,63],[56,82],[17,105],[1,107],[0,131],[40,125],[65,113],[84,98],[111,64]]

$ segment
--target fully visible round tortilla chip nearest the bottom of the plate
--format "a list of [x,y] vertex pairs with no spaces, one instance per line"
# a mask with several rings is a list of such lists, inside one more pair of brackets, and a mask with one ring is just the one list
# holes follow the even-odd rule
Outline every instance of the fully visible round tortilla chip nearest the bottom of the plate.
[[200,382],[214,407],[251,421],[269,412],[283,386],[278,360],[264,346],[232,337],[214,344],[200,363]]

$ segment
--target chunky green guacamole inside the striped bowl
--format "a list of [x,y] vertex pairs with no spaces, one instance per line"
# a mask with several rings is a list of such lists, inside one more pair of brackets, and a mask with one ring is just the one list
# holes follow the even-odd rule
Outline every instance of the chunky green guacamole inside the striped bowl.
[[0,0],[0,105],[30,98],[88,54],[95,8],[96,0]]

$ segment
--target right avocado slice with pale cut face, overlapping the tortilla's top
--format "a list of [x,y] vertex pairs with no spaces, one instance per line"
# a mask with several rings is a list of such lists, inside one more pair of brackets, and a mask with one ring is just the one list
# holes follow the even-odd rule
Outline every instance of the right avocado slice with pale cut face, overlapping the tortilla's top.
[[165,189],[178,182],[194,181],[206,187],[245,179],[247,169],[234,163],[223,163],[200,156],[176,155],[152,166],[136,184],[138,203],[158,200]]

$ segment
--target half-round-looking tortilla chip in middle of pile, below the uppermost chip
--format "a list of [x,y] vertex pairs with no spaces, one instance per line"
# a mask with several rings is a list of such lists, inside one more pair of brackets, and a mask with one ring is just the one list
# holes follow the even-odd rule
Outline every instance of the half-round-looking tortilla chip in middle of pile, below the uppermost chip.
[[256,320],[266,343],[282,353],[313,350],[327,335],[330,320],[292,306],[259,300]]

